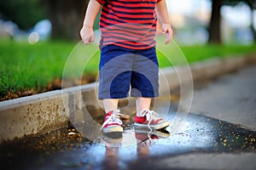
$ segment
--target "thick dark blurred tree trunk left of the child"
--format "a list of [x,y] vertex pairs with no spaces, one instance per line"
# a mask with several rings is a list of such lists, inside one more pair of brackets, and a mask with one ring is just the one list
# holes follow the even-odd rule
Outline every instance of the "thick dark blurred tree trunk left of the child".
[[41,0],[52,23],[55,39],[78,40],[90,0]]

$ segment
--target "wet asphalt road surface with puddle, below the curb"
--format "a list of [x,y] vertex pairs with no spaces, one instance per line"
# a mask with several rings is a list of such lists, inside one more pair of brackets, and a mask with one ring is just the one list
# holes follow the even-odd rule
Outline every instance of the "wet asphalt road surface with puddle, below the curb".
[[[195,86],[194,106],[183,126],[175,133],[172,133],[171,127],[161,131],[137,129],[132,125],[131,116],[130,121],[125,121],[125,132],[120,137],[102,135],[90,141],[70,124],[52,133],[4,142],[0,145],[1,168],[255,169],[254,75],[255,65],[211,81],[195,82],[200,84]],[[234,80],[242,80],[243,88],[251,93],[237,95]],[[219,105],[220,99],[216,93],[209,96],[215,88],[224,92],[235,88],[230,93],[220,93],[223,99],[221,103],[230,98],[234,106],[224,108]],[[201,103],[198,99],[204,97],[205,102]],[[236,97],[247,100],[237,102]],[[242,109],[244,105],[247,111],[241,118],[241,111],[237,111],[237,108]],[[170,122],[174,119],[176,109],[177,101],[172,99],[167,116]]]

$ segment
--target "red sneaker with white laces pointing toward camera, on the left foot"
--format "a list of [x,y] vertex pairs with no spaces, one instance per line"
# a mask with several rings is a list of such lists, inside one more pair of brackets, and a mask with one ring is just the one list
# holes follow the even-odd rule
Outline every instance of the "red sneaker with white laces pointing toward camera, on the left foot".
[[119,110],[109,111],[104,118],[101,130],[103,133],[122,133],[122,121],[119,116],[123,116]]

